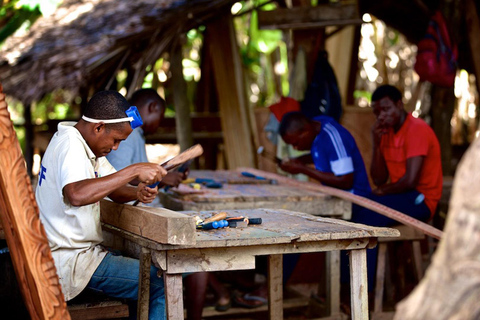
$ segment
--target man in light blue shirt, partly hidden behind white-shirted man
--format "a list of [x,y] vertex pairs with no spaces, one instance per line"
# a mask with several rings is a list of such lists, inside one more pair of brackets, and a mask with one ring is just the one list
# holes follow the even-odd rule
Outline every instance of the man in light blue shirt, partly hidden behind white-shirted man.
[[[116,170],[121,170],[131,164],[148,162],[145,150],[145,134],[157,132],[165,115],[166,102],[153,89],[140,89],[133,93],[130,104],[138,108],[142,117],[142,126],[135,128],[117,150],[107,155],[108,161]],[[169,172],[160,182],[163,186],[178,186],[187,178],[188,172]]]

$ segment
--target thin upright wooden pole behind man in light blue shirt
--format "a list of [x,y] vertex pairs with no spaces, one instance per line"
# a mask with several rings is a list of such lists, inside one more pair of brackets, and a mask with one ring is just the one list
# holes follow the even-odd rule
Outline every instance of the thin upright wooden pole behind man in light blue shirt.
[[[180,36],[182,39],[184,37]],[[173,44],[170,69],[172,71],[173,101],[175,102],[175,131],[180,150],[186,150],[193,145],[192,120],[190,119],[190,106],[187,100],[187,83],[183,78],[182,41]]]

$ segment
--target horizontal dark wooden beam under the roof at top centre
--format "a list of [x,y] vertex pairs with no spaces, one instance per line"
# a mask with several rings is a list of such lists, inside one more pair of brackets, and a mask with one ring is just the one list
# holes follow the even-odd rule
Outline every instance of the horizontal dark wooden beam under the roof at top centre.
[[318,5],[258,11],[260,29],[309,29],[326,26],[361,24],[357,5]]

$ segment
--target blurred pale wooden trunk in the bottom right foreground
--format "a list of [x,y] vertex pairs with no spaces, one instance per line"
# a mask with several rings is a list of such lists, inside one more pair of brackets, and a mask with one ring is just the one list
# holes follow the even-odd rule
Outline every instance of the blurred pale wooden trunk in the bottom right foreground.
[[478,319],[480,305],[480,140],[456,172],[445,232],[425,277],[395,319]]

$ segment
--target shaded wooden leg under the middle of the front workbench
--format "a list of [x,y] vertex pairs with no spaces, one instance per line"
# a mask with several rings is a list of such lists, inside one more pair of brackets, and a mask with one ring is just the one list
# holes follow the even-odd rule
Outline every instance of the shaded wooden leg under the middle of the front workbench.
[[283,255],[268,256],[268,313],[270,320],[283,319]]

